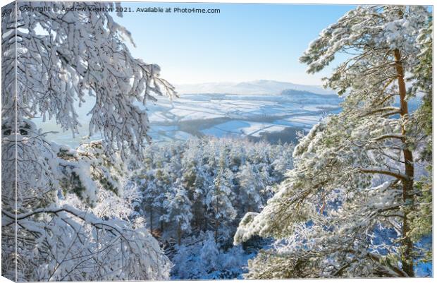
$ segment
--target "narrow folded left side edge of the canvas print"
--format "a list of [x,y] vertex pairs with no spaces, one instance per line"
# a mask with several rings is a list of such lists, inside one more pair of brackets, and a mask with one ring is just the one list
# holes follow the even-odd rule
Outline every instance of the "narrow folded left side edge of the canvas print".
[[[17,238],[17,36],[16,2],[1,8],[1,275],[20,281]],[[20,234],[20,236],[23,236]]]

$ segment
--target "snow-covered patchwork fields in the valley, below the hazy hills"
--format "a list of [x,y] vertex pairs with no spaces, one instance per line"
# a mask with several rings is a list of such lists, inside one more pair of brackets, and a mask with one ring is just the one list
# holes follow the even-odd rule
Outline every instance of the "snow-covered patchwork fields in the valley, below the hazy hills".
[[[336,95],[287,90],[278,95],[182,94],[148,107],[155,141],[190,136],[261,138],[288,128],[307,131],[340,109]],[[173,131],[161,127],[173,126]],[[185,133],[185,134],[183,134]]]

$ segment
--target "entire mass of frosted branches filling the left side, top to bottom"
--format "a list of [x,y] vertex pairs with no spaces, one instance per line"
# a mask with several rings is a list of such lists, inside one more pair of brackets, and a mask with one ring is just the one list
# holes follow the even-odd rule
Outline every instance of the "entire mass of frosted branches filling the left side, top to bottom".
[[[130,33],[105,12],[113,3],[56,5],[20,1],[2,13],[2,274],[16,281],[166,279],[168,258],[130,221],[132,195],[119,164],[142,157],[152,93],[176,92],[159,78],[159,66],[130,54],[123,43]],[[85,100],[95,100],[89,127],[90,136],[101,133],[98,143],[70,150],[30,121],[42,116],[78,133],[75,103]]]

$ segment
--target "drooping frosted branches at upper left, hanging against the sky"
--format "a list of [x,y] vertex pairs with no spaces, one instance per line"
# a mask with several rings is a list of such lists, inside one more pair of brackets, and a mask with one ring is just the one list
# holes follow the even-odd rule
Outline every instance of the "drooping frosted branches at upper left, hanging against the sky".
[[[141,155],[149,121],[144,107],[137,105],[155,100],[152,92],[171,96],[176,92],[159,78],[159,66],[133,58],[123,43],[125,39],[133,42],[130,32],[109,13],[99,11],[113,3],[58,4],[54,11],[50,2],[18,2],[18,6],[37,8],[32,12],[18,9],[17,15],[2,19],[4,123],[14,123],[9,112],[17,108],[18,124],[41,115],[78,133],[74,102],[91,96],[95,104],[90,112],[90,135],[101,133],[106,152]],[[15,11],[13,5],[9,7]],[[42,11],[44,7],[50,10]]]

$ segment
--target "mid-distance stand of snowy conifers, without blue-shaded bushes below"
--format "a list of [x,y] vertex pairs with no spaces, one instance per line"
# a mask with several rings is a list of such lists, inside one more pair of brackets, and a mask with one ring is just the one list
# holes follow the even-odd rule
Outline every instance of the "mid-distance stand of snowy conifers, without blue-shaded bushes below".
[[271,186],[283,180],[291,166],[285,156],[293,148],[226,138],[153,144],[145,150],[142,168],[133,176],[141,190],[138,212],[149,219],[149,224],[154,223],[153,229],[161,222],[157,231],[162,232],[161,240],[174,239],[178,235],[178,214],[165,204],[174,198],[176,188],[183,188],[187,198],[184,203],[190,203],[184,208],[190,215],[190,232],[183,233],[183,238],[216,231],[219,244],[227,246],[226,235],[235,232],[238,217],[245,215],[252,201],[257,202],[252,206],[259,211],[271,197]]

